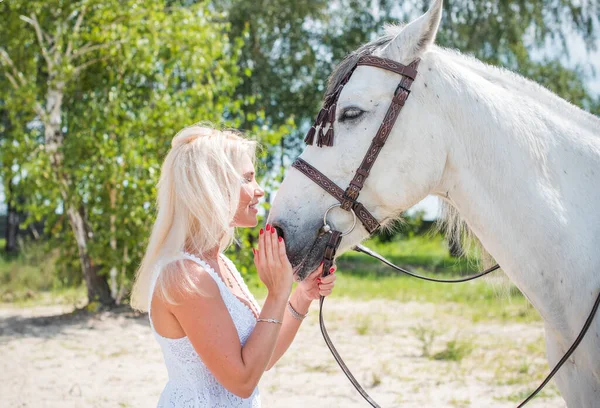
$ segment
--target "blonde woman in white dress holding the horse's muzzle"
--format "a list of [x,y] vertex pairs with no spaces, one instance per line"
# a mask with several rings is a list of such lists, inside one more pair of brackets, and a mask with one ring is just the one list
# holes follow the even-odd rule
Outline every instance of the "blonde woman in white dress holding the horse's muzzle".
[[234,227],[258,223],[264,191],[255,149],[234,132],[191,126],[163,163],[158,214],[132,292],[132,306],[149,312],[169,373],[159,407],[260,407],[262,374],[288,349],[311,302],[333,288],[335,275],[321,279],[320,267],[291,293],[285,242],[270,225],[253,249],[268,290],[262,309],[223,254]]

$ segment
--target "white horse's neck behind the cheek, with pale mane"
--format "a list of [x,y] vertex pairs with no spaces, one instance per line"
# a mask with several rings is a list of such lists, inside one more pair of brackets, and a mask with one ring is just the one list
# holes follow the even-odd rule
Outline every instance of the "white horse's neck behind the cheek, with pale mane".
[[472,61],[443,52],[428,64],[437,71],[428,89],[444,90],[429,97],[448,120],[436,194],[457,208],[544,319],[560,326],[565,297],[600,287],[593,272],[600,266],[600,138],[593,134],[600,121],[562,100],[550,108],[556,100],[544,100],[549,92],[536,94],[532,84],[524,93],[511,89],[502,76],[514,74],[488,68],[486,78],[478,72],[485,66],[472,69]]

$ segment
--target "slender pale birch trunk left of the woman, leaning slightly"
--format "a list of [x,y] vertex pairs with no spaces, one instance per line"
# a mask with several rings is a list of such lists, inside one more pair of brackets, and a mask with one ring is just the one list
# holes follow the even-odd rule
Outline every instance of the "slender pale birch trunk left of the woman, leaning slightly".
[[58,181],[59,189],[65,203],[66,212],[69,217],[69,223],[77,241],[79,251],[79,260],[83,277],[88,290],[88,302],[95,300],[102,305],[112,306],[114,299],[111,296],[110,288],[106,277],[101,276],[97,268],[92,265],[88,252],[88,231],[86,230],[83,215],[75,208],[69,199],[69,189],[71,180],[63,169],[62,145],[64,135],[61,127],[62,100],[65,84],[60,81],[53,81],[52,75],[48,81],[53,86],[49,87],[46,99],[46,117],[44,123],[44,138],[46,151],[50,157],[50,164]]

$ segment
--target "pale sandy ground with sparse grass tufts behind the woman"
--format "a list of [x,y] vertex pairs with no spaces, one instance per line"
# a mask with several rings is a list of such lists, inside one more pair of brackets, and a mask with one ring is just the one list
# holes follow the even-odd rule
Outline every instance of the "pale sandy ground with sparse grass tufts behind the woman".
[[[263,406],[368,406],[329,354],[313,306],[261,380]],[[473,323],[445,304],[334,299],[325,307],[334,343],[382,407],[515,407],[548,372],[539,323]],[[71,311],[0,307],[0,407],[156,406],[167,373],[147,317]],[[467,351],[452,361],[424,350]],[[565,406],[554,384],[529,405]]]

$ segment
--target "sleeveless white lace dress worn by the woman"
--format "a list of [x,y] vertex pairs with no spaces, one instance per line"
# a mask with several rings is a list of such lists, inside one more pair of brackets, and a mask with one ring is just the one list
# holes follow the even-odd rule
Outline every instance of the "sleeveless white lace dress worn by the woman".
[[[229,269],[235,274],[236,279],[245,291],[248,299],[252,301],[257,310],[260,310],[256,299],[254,299],[254,296],[252,296],[248,290],[248,287],[244,283],[244,280],[235,265],[233,265],[225,255],[221,254],[221,256],[227,263]],[[210,265],[208,265],[208,263],[188,253],[184,253],[183,257],[198,263],[215,280],[219,287],[219,291],[221,292],[223,302],[235,324],[240,342],[244,345],[256,325],[254,313],[252,313],[250,308],[238,299],[227,286],[225,286],[225,283],[221,280],[220,276],[210,267]],[[162,268],[159,267],[154,272],[150,285],[148,311],[151,310],[152,294],[154,293],[156,279],[161,270]],[[148,313],[148,317],[150,319],[150,327],[152,328],[154,337],[162,349],[169,374],[169,381],[160,395],[158,408],[260,407],[258,387],[254,389],[254,392],[249,398],[240,398],[229,392],[217,381],[206,365],[204,365],[187,337],[169,339],[161,336],[154,329],[150,313]]]

